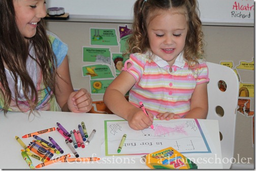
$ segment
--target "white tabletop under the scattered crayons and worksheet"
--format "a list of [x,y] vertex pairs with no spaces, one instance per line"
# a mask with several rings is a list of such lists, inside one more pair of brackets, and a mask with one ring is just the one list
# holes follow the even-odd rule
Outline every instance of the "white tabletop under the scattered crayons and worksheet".
[[[104,120],[109,119],[122,119],[116,115],[110,114],[89,114],[89,113],[69,113],[69,112],[40,112],[39,117],[30,116],[20,112],[8,112],[7,116],[4,116],[3,112],[0,112],[0,138],[1,138],[1,155],[0,155],[0,167],[2,169],[28,169],[28,165],[22,159],[20,144],[15,140],[15,136],[28,145],[33,137],[22,138],[23,135],[39,130],[57,127],[56,122],[62,124],[68,131],[76,129],[78,130],[78,124],[82,121],[85,122],[88,134],[93,129],[96,129],[92,141],[85,148],[77,148],[76,151],[80,157],[100,157],[101,160],[97,162],[85,162],[85,163],[54,163],[42,167],[42,169],[147,169],[145,163],[141,162],[141,156],[136,157],[122,157],[116,159],[114,157],[104,158],[101,154],[102,138],[104,136]],[[31,121],[32,120],[32,121]],[[195,159],[199,169],[219,169],[222,168],[221,162],[215,162],[215,159],[221,160],[221,148],[219,141],[219,129],[217,120],[199,120],[200,124],[207,126],[208,136],[213,142],[215,148],[215,154],[203,154],[203,155],[189,155],[188,158]],[[59,157],[70,153],[74,157],[71,150],[65,144],[64,138],[59,134],[58,131],[52,131],[38,135],[41,138],[49,141],[48,136],[51,136],[63,149],[64,153],[54,156],[53,158]],[[50,142],[50,141],[49,141]],[[185,155],[186,156],[186,155]],[[52,158],[52,159],[53,159]],[[125,159],[124,159],[125,158]],[[33,161],[33,165],[42,163],[41,161],[30,157]],[[209,161],[209,162],[208,162]]]

